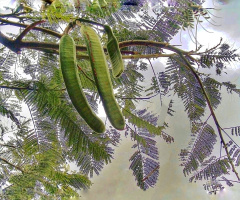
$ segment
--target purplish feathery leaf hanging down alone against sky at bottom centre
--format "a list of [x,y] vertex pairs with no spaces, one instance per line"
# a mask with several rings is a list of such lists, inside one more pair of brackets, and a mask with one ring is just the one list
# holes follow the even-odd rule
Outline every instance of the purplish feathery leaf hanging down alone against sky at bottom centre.
[[[126,111],[123,111],[123,113],[125,112]],[[156,141],[154,140],[155,135],[158,135],[158,133],[154,134],[151,131],[160,131],[161,128],[155,127],[157,117],[147,113],[146,109],[139,110],[136,115],[138,118],[142,118],[142,122],[145,121],[145,123],[147,122],[152,124],[142,126],[141,124],[133,122],[132,118],[130,118],[128,121],[133,124],[133,127],[131,125],[127,125],[127,129],[125,131],[125,135],[130,134],[131,138],[136,141],[136,144],[132,146],[132,148],[136,148],[136,151],[129,159],[131,162],[129,168],[133,171],[137,185],[141,189],[146,190],[156,184],[159,175],[159,156]],[[131,117],[133,116],[134,115],[131,114]],[[134,116],[134,118],[137,116]],[[166,139],[166,137],[163,138]],[[166,141],[169,142],[167,139]],[[172,140],[170,139],[170,142],[171,141]]]

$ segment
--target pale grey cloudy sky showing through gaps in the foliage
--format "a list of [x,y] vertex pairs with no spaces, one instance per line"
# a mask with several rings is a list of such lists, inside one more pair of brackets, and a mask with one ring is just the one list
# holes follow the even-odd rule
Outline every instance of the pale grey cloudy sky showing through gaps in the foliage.
[[[206,0],[207,7],[212,7],[212,0]],[[234,46],[240,47],[240,1],[239,0],[214,0],[215,7],[219,10],[214,11],[214,15],[221,18],[213,18],[218,26],[212,26],[205,23],[207,30],[213,33],[199,29],[199,42],[206,47],[217,44],[220,37],[224,41],[228,41]],[[10,6],[10,0],[1,0],[2,5]],[[184,49],[194,49],[193,43],[189,42],[189,36],[182,33],[174,37],[171,44],[181,44]],[[160,60],[154,61],[156,70],[163,67]],[[231,66],[233,69],[221,79],[231,80],[240,86],[238,65]],[[149,79],[146,80],[146,84]],[[160,114],[160,121],[169,122],[168,133],[175,138],[173,144],[166,144],[160,138],[158,139],[159,157],[160,157],[160,175],[157,185],[147,191],[142,191],[136,186],[134,176],[129,170],[129,158],[133,154],[134,149],[132,141],[122,137],[122,141],[115,151],[115,159],[111,164],[107,165],[99,176],[95,176],[93,186],[89,191],[81,192],[82,200],[223,200],[240,199],[240,184],[234,187],[226,187],[224,191],[217,195],[209,195],[203,189],[203,183],[189,183],[184,177],[182,168],[179,166],[178,154],[181,148],[185,148],[188,144],[190,134],[190,125],[187,120],[186,113],[180,100],[175,101],[174,117],[166,114],[166,107],[169,100],[163,102],[163,109],[160,110],[159,98],[153,103],[143,103],[142,107],[148,107],[152,111]],[[164,109],[165,108],[165,109]],[[216,115],[222,126],[236,126],[239,124],[240,104],[237,95],[223,97],[223,102]],[[161,122],[160,122],[161,123]],[[238,169],[240,173],[240,169]]]

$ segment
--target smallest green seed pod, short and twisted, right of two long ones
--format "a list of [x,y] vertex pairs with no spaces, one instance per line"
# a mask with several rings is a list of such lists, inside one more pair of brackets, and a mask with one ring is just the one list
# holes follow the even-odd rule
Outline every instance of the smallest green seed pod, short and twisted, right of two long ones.
[[124,64],[118,41],[117,38],[114,36],[110,26],[105,25],[104,30],[108,35],[107,50],[112,63],[113,76],[119,77],[124,71]]

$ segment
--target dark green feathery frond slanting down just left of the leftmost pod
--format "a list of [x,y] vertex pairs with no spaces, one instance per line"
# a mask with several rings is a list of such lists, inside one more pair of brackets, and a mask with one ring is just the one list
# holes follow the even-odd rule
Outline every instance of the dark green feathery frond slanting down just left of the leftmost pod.
[[[21,91],[24,100],[29,106],[37,108],[41,116],[49,116],[51,120],[61,126],[65,135],[69,138],[69,145],[74,146],[74,151],[89,152],[97,160],[109,161],[109,155],[105,152],[103,144],[91,140],[90,136],[81,129],[79,124],[85,124],[78,119],[76,112],[68,102],[61,100],[62,91],[52,90],[44,82],[29,82],[29,84],[16,83],[18,86],[29,87]],[[86,126],[86,125],[85,125]]]

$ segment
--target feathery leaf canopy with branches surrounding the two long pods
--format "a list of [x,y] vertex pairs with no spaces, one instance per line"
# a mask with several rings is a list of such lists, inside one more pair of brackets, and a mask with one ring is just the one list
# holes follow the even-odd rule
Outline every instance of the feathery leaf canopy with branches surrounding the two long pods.
[[[154,187],[161,172],[156,138],[174,142],[167,134],[167,123],[158,122],[156,114],[138,107],[141,101],[156,96],[160,96],[159,105],[163,98],[174,96],[184,104],[193,142],[180,152],[180,159],[190,182],[206,180],[205,189],[216,193],[224,187],[219,179],[229,186],[233,185],[229,174],[239,180],[235,168],[240,164],[240,147],[234,136],[229,140],[224,134],[229,136],[230,131],[240,135],[240,126],[222,127],[215,110],[221,103],[223,87],[229,94],[240,94],[240,90],[201,72],[215,69],[221,75],[227,64],[239,60],[239,55],[222,40],[204,51],[197,40],[192,51],[169,44],[179,31],[192,30],[211,17],[202,7],[203,0],[55,0],[41,2],[41,8],[36,2],[18,0],[15,9],[5,8],[0,14],[1,27],[18,27],[14,34],[0,32],[2,199],[77,198],[79,189],[90,187],[88,177],[98,175],[111,162],[122,132],[135,142],[129,168],[137,185],[143,190]],[[125,118],[122,132],[106,120],[106,131],[95,133],[68,96],[58,55],[64,34],[76,43],[78,76],[97,113],[101,95],[89,53],[95,49],[87,51],[79,30],[82,25],[93,28],[101,40],[114,97]],[[111,41],[117,48],[109,52]],[[166,66],[155,73],[152,59],[161,57],[167,60]],[[115,73],[114,66],[122,62],[122,74]],[[142,82],[149,69],[154,76],[146,88]],[[28,109],[28,116],[23,108]],[[170,100],[167,112],[171,116],[173,108],[174,101]],[[210,118],[214,126],[209,124]],[[225,152],[220,156],[213,153],[218,138]],[[79,171],[73,171],[70,163]]]

